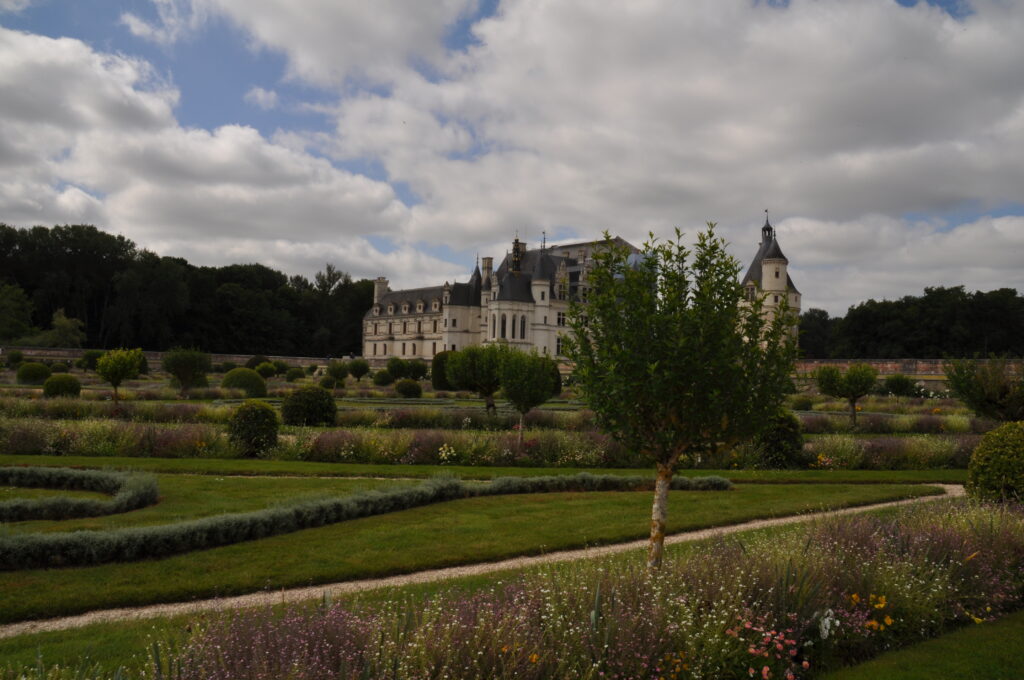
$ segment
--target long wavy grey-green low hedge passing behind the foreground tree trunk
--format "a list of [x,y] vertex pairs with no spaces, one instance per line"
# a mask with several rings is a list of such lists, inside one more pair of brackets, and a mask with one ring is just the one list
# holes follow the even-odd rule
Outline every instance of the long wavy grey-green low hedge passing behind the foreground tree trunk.
[[[434,478],[407,488],[305,501],[291,506],[163,526],[0,536],[0,570],[83,566],[167,557],[461,498],[567,491],[638,491],[653,488],[653,479],[646,477],[586,472],[552,477],[499,477],[490,483]],[[732,482],[728,479],[715,476],[676,477],[672,481],[672,488],[677,491],[725,491],[731,487]]]

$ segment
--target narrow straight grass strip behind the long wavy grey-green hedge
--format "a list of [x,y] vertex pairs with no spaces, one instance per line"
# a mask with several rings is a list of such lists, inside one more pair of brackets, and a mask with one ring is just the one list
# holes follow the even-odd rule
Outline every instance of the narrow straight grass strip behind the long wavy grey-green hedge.
[[[214,475],[301,475],[340,477],[398,477],[425,479],[450,474],[463,479],[527,477],[556,474],[654,476],[650,468],[526,468],[440,465],[370,465],[306,463],[207,458],[101,458],[93,456],[0,455],[0,465],[53,465],[60,467],[117,468],[148,472],[184,472]],[[947,483],[967,481],[967,470],[679,470],[687,477],[717,474],[744,483]]]

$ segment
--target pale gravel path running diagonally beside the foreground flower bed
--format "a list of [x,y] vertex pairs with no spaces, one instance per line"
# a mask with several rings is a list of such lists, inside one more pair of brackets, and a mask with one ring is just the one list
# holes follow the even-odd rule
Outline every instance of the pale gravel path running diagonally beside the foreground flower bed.
[[[713,528],[699,529],[696,532],[685,532],[668,536],[665,539],[667,545],[677,543],[688,543],[691,541],[701,541],[717,536],[727,536],[738,532],[746,532],[766,526],[781,526],[783,524],[795,524],[806,522],[821,517],[848,515],[865,510],[876,510],[879,508],[889,508],[910,503],[922,503],[934,501],[953,496],[963,496],[964,487],[958,484],[929,484],[930,486],[940,486],[945,492],[944,496],[924,496],[920,498],[906,499],[903,501],[890,501],[887,503],[876,503],[854,508],[843,508],[840,510],[827,510],[824,512],[812,512],[802,515],[790,515],[787,517],[774,517],[771,519],[756,519],[742,522],[741,524],[730,524],[728,526],[716,526]],[[319,599],[326,593],[332,597],[344,595],[346,593],[356,593],[378,588],[389,588],[394,586],[406,586],[410,584],[431,583],[435,581],[446,581],[462,577],[476,576],[480,573],[490,573],[506,569],[520,569],[540,564],[550,564],[552,562],[565,562],[577,559],[590,559],[603,557],[615,553],[630,550],[646,550],[647,540],[631,541],[629,543],[617,543],[594,548],[583,548],[581,550],[563,550],[548,553],[545,555],[535,555],[531,557],[513,557],[499,562],[484,562],[480,564],[466,564],[464,566],[452,566],[442,569],[429,569],[426,571],[416,571],[384,579],[370,579],[367,581],[348,581],[335,584],[324,584],[321,586],[309,586],[306,588],[291,588],[287,590],[260,591],[249,595],[239,595],[236,597],[218,597],[207,600],[195,600],[191,602],[177,602],[170,604],[154,604],[142,607],[130,607],[121,609],[97,609],[77,617],[63,617],[59,619],[48,619],[45,621],[28,621],[17,624],[0,626],[0,639],[25,635],[29,633],[43,633],[48,631],[61,631],[71,628],[80,628],[92,624],[140,621],[145,619],[156,619],[160,617],[176,617],[186,613],[200,613],[203,611],[216,611],[222,609],[236,609],[245,607],[265,606],[280,604],[283,602],[301,602],[311,599]]]

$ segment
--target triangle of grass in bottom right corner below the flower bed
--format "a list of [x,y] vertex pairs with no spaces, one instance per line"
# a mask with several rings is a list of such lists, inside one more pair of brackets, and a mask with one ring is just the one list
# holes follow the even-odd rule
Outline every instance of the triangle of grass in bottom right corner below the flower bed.
[[1024,677],[1024,611],[890,651],[826,680],[1018,680]]

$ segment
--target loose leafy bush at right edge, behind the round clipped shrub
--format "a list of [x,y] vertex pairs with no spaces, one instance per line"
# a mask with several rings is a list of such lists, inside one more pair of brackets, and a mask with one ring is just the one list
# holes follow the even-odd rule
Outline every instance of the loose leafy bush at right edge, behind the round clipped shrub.
[[1005,357],[951,359],[945,364],[950,391],[983,418],[1024,420],[1024,368],[1014,375]]

